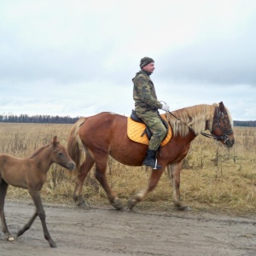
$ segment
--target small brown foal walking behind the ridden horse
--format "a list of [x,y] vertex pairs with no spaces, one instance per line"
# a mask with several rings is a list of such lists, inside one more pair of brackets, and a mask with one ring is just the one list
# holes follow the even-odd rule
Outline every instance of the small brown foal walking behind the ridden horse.
[[9,184],[22,189],[28,189],[29,194],[36,206],[36,211],[28,223],[18,231],[17,237],[28,230],[35,218],[39,216],[44,230],[44,238],[49,241],[50,247],[56,247],[55,242],[49,236],[49,231],[45,223],[45,212],[41,201],[41,189],[46,181],[49,166],[52,163],[59,164],[68,170],[75,169],[75,163],[67,153],[57,137],[52,143],[42,148],[38,148],[29,158],[15,158],[9,154],[0,154],[0,215],[2,220],[2,230],[8,241],[13,241],[14,237],[9,233],[4,216],[4,200]]

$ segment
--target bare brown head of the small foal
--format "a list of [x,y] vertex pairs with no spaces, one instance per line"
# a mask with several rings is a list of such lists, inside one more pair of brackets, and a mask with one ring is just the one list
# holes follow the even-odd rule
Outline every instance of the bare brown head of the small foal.
[[53,153],[51,154],[52,161],[72,171],[76,167],[76,164],[67,153],[67,149],[61,145],[56,136],[53,137],[51,144],[53,146]]

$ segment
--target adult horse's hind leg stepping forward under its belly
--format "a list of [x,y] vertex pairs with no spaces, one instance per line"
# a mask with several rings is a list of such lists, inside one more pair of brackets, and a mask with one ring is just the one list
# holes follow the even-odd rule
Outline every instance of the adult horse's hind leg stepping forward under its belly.
[[106,176],[106,169],[108,164],[108,154],[97,154],[94,155],[96,160],[96,179],[101,183],[102,188],[108,195],[108,201],[116,209],[122,209],[124,206],[119,201],[119,197],[113,192],[113,189],[108,184],[108,178]]

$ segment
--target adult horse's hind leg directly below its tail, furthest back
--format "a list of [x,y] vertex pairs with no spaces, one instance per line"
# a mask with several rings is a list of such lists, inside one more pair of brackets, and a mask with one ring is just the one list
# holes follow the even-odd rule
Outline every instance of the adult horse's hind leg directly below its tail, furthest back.
[[88,152],[86,152],[85,154],[85,160],[79,168],[79,174],[76,179],[76,185],[73,191],[73,201],[75,201],[79,207],[90,208],[84,201],[84,198],[81,194],[84,185],[84,179],[90,171],[91,167],[94,165],[95,160],[90,156]]

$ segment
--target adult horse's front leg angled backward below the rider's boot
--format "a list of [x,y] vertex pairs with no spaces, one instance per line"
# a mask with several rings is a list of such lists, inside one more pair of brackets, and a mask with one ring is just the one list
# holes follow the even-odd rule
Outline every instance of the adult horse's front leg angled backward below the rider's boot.
[[149,192],[151,192],[160,180],[161,175],[165,171],[165,166],[161,170],[153,170],[148,181],[148,188],[139,190],[135,195],[127,201],[127,206],[130,210],[137,205],[138,202],[143,201]]

